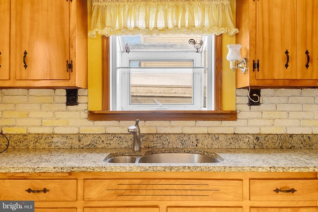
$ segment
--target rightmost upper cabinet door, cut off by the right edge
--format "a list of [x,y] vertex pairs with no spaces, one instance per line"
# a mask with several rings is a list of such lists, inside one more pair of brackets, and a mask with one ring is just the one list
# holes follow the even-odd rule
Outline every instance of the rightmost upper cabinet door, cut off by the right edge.
[[318,1],[297,1],[297,70],[299,79],[318,79]]

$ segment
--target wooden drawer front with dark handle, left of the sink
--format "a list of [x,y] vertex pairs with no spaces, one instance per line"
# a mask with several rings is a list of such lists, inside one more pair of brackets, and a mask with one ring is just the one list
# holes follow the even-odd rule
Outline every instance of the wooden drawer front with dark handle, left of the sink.
[[77,180],[0,180],[0,200],[76,201]]

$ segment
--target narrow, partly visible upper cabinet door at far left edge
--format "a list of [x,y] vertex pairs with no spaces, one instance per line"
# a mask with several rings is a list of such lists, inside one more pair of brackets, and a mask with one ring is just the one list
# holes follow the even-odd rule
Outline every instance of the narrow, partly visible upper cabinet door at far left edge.
[[10,0],[0,0],[0,79],[9,79]]

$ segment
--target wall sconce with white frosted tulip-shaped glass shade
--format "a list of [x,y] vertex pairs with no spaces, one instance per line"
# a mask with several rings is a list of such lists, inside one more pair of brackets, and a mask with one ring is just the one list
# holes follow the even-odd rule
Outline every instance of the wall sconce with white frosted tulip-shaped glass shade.
[[236,69],[240,69],[242,73],[246,73],[248,68],[247,58],[243,58],[241,62],[238,63],[238,61],[241,59],[239,49],[242,47],[242,45],[230,44],[227,47],[229,49],[227,60],[230,61],[230,68],[233,71],[235,71]]

